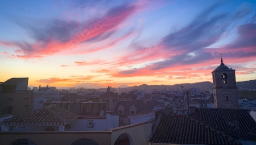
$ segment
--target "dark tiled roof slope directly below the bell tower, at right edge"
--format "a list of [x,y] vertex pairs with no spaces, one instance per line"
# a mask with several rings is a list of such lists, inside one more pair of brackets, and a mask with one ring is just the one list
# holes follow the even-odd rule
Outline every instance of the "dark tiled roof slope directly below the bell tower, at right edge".
[[196,108],[192,116],[198,121],[225,131],[233,138],[256,139],[256,122],[251,117],[249,110]]

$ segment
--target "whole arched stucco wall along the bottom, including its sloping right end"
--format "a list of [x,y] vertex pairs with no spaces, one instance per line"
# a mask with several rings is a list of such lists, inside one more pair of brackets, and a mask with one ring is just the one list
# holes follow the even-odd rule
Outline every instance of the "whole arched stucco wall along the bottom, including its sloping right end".
[[38,145],[71,145],[78,139],[89,138],[99,145],[114,145],[121,134],[129,134],[133,144],[147,144],[151,134],[151,122],[117,127],[108,131],[44,131],[44,132],[0,132],[0,144],[10,144],[16,139],[30,139]]

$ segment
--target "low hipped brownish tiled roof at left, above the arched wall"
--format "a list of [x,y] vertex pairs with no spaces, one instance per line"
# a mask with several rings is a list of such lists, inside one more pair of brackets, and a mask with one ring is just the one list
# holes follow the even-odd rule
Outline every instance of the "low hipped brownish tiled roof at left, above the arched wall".
[[77,117],[79,115],[51,105],[6,119],[1,125],[67,125]]

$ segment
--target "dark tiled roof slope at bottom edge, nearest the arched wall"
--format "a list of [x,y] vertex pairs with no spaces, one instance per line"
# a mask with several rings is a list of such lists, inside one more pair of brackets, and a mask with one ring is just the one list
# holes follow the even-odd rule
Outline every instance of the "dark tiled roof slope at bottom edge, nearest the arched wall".
[[[163,115],[150,136],[151,143],[240,144],[232,137],[185,115]],[[158,121],[156,121],[158,122]]]

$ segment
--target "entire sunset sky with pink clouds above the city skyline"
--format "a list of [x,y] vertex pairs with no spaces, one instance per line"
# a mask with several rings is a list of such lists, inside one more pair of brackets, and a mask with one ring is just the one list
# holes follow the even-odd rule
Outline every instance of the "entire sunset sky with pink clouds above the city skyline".
[[0,81],[28,85],[256,79],[256,1],[0,1]]

